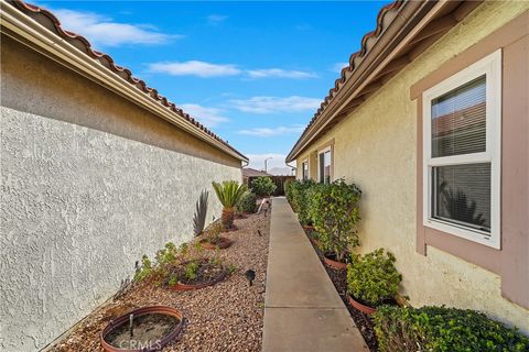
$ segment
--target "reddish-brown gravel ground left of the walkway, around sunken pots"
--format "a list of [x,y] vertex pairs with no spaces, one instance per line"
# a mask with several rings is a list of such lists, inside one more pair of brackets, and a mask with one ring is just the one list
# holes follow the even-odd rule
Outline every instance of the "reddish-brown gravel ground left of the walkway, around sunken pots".
[[[218,255],[227,265],[237,267],[225,280],[191,292],[134,284],[119,298],[90,314],[51,351],[102,351],[99,333],[109,321],[130,309],[158,305],[174,307],[185,317],[179,341],[163,351],[260,351],[269,221],[270,217],[250,215],[236,220],[237,231],[223,233],[234,243],[218,251]],[[250,268],[256,272],[252,286],[244,275]]]

